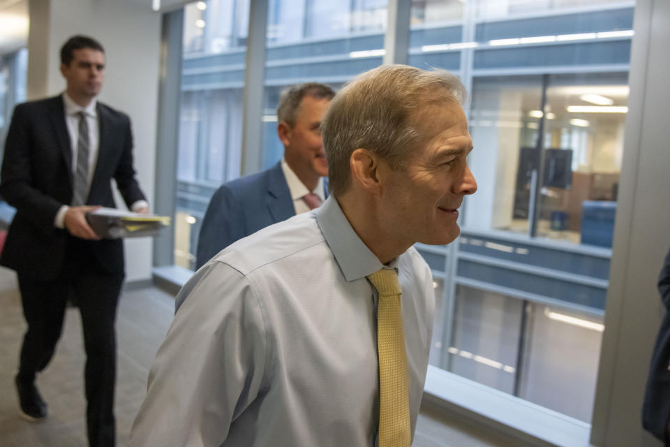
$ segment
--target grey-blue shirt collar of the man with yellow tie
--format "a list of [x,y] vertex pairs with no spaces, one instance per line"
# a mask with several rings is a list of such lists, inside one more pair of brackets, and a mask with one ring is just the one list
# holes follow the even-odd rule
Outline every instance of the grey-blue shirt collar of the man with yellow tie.
[[347,281],[366,277],[382,268],[396,268],[397,258],[384,265],[352,228],[334,196],[316,212],[316,221]]

